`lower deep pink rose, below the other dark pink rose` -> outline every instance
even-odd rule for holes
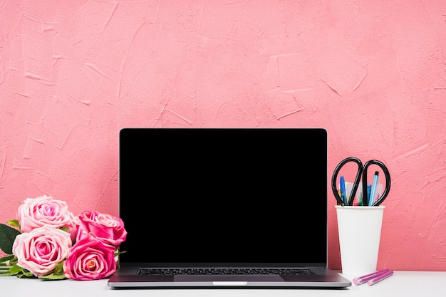
[[[78,281],[106,278],[116,271],[115,251],[115,246],[85,236],[74,244],[63,262],[65,276]]]

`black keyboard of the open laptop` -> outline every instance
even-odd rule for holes
[[[314,273],[309,269],[139,269],[138,275],[142,276],[174,276],[174,275],[234,275],[234,274],[254,274],[254,275],[292,275],[311,276]]]

